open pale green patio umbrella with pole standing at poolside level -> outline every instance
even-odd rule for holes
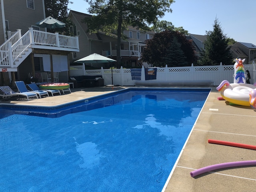
[[[75,62],[78,63],[112,63],[115,62],[116,60],[102,56],[100,54],[90,54],[82,59],[76,60]],[[112,70],[112,65],[111,65],[111,74],[112,74],[112,85],[113,85],[113,70]]]

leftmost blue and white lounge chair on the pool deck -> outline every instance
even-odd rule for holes
[[[4,93],[4,94],[0,94],[0,96],[4,99],[10,98],[13,96],[25,96],[28,100],[29,98],[32,98],[32,97],[36,97],[38,99],[38,96],[36,93],[33,93],[33,92],[16,93],[9,86],[0,86],[0,90]]]

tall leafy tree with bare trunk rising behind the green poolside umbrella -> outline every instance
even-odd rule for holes
[[[91,32],[99,30],[107,35],[117,35],[117,62],[120,67],[120,48],[122,31],[127,26],[149,30],[164,13],[172,12],[170,5],[174,0],[86,0],[90,4],[88,12],[93,16],[85,18]]]

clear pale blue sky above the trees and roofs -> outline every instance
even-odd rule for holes
[[[89,4],[72,0],[68,8],[87,13]],[[175,0],[160,20],[182,26],[190,34],[205,35],[213,30],[214,20],[220,22],[222,32],[237,42],[256,45],[256,0]]]

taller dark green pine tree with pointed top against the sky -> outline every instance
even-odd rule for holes
[[[213,25],[213,31],[206,31],[207,40],[205,50],[202,51],[201,63],[203,65],[223,65],[232,64],[232,54],[228,47],[228,38],[223,34],[222,28],[216,18]]]

